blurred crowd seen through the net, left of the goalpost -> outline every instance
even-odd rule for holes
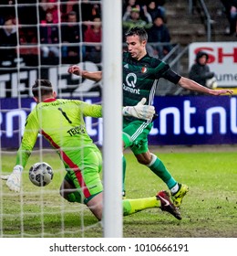
[[[14,66],[15,59],[27,66],[73,64],[93,56],[100,61],[101,1],[32,2],[17,0],[17,7],[15,1],[0,2],[1,66]]]

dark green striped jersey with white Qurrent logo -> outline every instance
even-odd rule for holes
[[[129,52],[123,53],[123,106],[135,106],[146,98],[146,104],[152,105],[156,88],[160,78],[178,83],[180,75],[170,69],[170,66],[150,57],[149,54],[142,59],[130,57]],[[131,122],[133,117],[124,117],[124,121]]]

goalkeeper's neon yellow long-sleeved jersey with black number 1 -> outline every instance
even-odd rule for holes
[[[75,155],[80,157],[80,151],[83,148],[96,148],[97,146],[93,144],[87,133],[85,116],[101,117],[101,105],[62,99],[48,99],[38,103],[27,116],[16,165],[26,166],[28,157],[36,144],[38,133],[41,133],[57,149],[62,158],[70,159]]]

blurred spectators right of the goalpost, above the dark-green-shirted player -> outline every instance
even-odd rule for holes
[[[165,2],[165,0],[123,1],[123,32],[134,26],[144,27],[149,35],[149,55],[158,56],[160,59],[171,49]]]

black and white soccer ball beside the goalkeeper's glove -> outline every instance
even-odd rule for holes
[[[53,169],[46,162],[32,165],[29,169],[29,179],[37,187],[45,187],[53,179]]]

